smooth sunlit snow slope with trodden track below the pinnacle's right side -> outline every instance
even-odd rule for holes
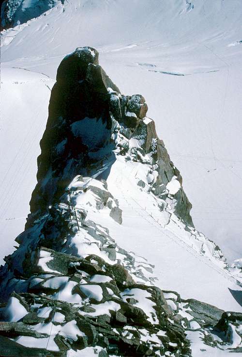
[[[108,227],[112,238],[124,249],[154,264],[156,286],[178,291],[184,299],[192,297],[224,310],[242,311],[229,291],[239,292],[241,288],[224,270],[222,262],[196,251],[194,236],[184,230],[174,214],[167,219],[167,212],[161,213],[154,195],[137,185],[139,179],[146,177],[146,168],[142,166],[146,165],[126,162],[121,156],[111,166],[107,185],[119,201],[121,225],[109,216],[108,210],[90,208],[88,218]],[[76,201],[76,209],[83,205],[84,202]]]

